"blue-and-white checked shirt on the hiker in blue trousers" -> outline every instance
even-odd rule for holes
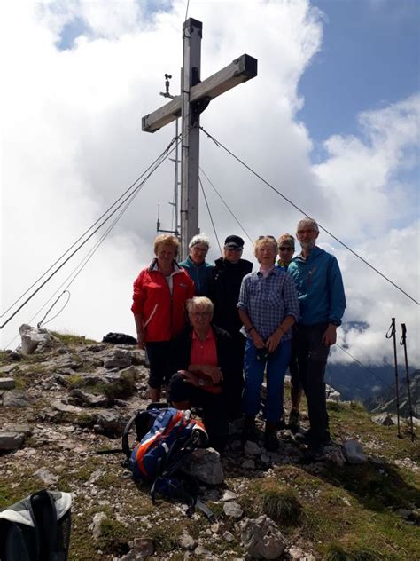
[[[244,277],[237,308],[245,310],[253,327],[265,341],[280,326],[284,318],[292,315],[299,320],[298,292],[292,277],[275,267],[268,277],[260,271]],[[284,333],[283,341],[292,339],[292,329]]]

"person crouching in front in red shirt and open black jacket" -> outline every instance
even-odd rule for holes
[[[206,296],[187,302],[191,328],[175,339],[169,397],[177,409],[203,409],[210,445],[222,451],[229,434],[227,395],[231,391],[232,339],[212,323],[214,306]]]

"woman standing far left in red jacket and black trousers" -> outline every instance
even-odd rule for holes
[[[149,389],[159,401],[161,386],[172,372],[172,344],[186,324],[185,303],[194,296],[194,282],[175,261],[179,241],[162,233],[154,241],[156,257],[134,281],[133,305],[137,343],[150,362]]]

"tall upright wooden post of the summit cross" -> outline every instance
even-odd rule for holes
[[[188,243],[198,233],[199,113],[191,104],[191,88],[200,82],[201,21],[189,18],[183,23],[183,118],[181,176],[181,257],[188,256]]]

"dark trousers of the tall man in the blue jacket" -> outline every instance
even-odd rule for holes
[[[312,326],[298,325],[296,328],[299,377],[307,396],[308,436],[315,444],[330,440],[324,382],[330,347],[322,342],[327,327],[327,323],[318,323]]]

